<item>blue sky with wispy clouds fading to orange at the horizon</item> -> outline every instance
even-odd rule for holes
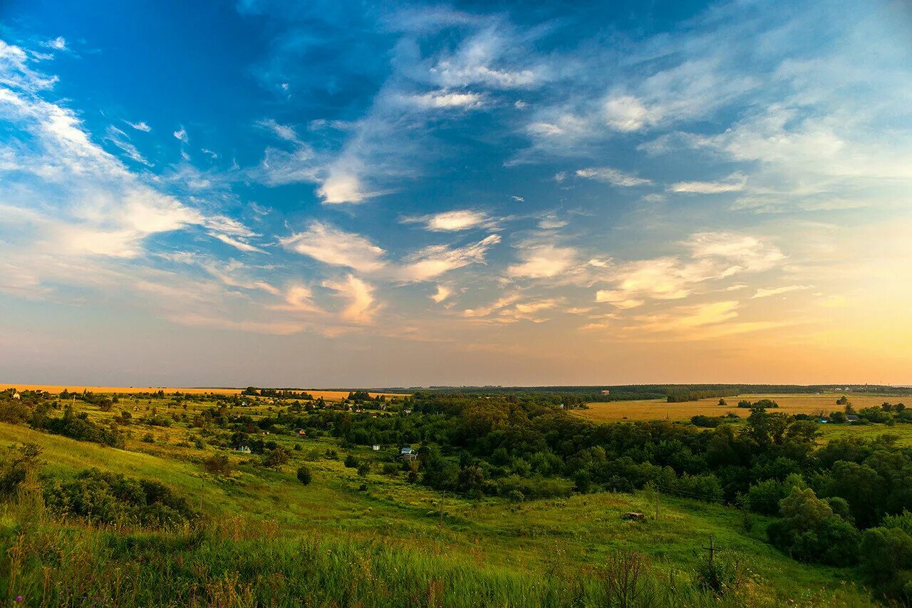
[[[0,4],[0,380],[912,383],[912,5]]]

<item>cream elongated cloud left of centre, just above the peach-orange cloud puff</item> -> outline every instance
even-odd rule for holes
[[[373,272],[386,266],[383,260],[386,252],[367,238],[322,222],[311,222],[304,232],[281,238],[279,243],[331,266],[346,266],[360,272]]]

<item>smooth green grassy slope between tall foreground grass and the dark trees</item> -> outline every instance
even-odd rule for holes
[[[160,435],[180,432],[157,431]],[[292,437],[273,438],[288,444],[298,441]],[[241,516],[275,521],[287,537],[329,534],[371,542],[382,539],[384,546],[420,550],[423,555],[455,558],[484,567],[497,566],[508,572],[554,571],[567,565],[586,571],[604,563],[611,550],[627,547],[645,552],[659,568],[689,571],[697,561],[700,546],[712,534],[723,549],[747,556],[751,570],[761,577],[759,595],[773,603],[773,598],[817,598],[823,602],[821,598],[830,593],[841,601],[866,602],[864,592],[844,586],[843,581],[854,578],[850,571],[787,559],[762,541],[762,519],[747,535],[741,532],[737,511],[700,502],[662,498],[658,522],[631,523],[622,521],[620,516],[629,510],[654,511],[646,493],[534,500],[518,506],[495,499],[448,497],[444,503],[446,525],[440,529],[440,497],[401,479],[372,473],[368,476],[368,491],[361,492],[357,488],[363,479],[353,469],[339,461],[320,460],[307,463],[314,471],[314,483],[308,487],[297,483],[294,470],[303,455],[314,447],[335,446],[328,439],[302,442],[304,450],[293,452],[295,461],[283,471],[264,471],[241,464],[239,472],[227,481],[202,473],[197,464],[211,450],[200,452],[130,441],[130,450],[150,452],[140,453],[0,424],[0,442],[26,441],[42,446],[46,473],[61,475],[98,466],[159,479],[192,501],[200,500],[198,506],[225,525],[230,525],[232,516],[238,522]],[[356,453],[359,457],[376,457],[367,449]],[[341,451],[340,454],[344,456]],[[246,460],[236,459],[240,463]]]

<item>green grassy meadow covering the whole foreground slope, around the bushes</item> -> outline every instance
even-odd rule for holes
[[[872,603],[853,569],[793,561],[774,549],[765,535],[772,518],[751,516],[746,526],[741,509],[651,489],[520,502],[441,494],[382,471],[399,446],[374,451],[329,435],[258,433],[290,455],[282,466],[264,467],[260,456],[219,448],[217,433],[186,422],[217,399],[120,393],[107,412],[72,402],[102,425],[132,412],[124,449],[0,423],[0,445],[40,447],[46,479],[98,467],[157,480],[204,516],[184,529],[87,526],[39,518],[40,509],[20,497],[20,505],[4,508],[5,549],[19,555],[6,591],[26,605],[615,605],[606,567],[628,554],[618,551],[633,551],[648,560],[659,588],[677,589],[642,605]],[[233,410],[256,419],[288,406],[254,398]],[[141,425],[144,414],[173,422]],[[326,456],[331,451],[337,456]],[[207,472],[204,460],[215,454],[229,458],[229,474]],[[349,455],[369,470],[346,466]],[[312,471],[309,485],[295,478],[299,466]],[[631,511],[647,517],[623,519]],[[691,584],[710,538],[747,566],[741,591],[724,600]]]

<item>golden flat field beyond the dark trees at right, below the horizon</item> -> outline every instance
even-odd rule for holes
[[[843,393],[824,394],[743,394],[737,397],[726,397],[728,407],[721,407],[719,398],[702,399],[684,404],[668,404],[663,399],[644,399],[638,401],[614,401],[609,403],[589,404],[588,410],[571,410],[573,414],[583,416],[596,422],[615,422],[617,420],[689,420],[690,416],[703,414],[718,416],[734,412],[741,417],[747,416],[747,410],[735,407],[741,399],[754,402],[760,399],[772,399],[779,404],[778,412],[788,414],[814,414],[819,410],[833,412],[842,410],[842,405],[836,405],[836,400]],[[859,393],[846,393],[855,409],[880,405],[885,401],[896,404],[903,402],[912,406],[912,395],[905,397],[884,397],[877,395],[863,395]]]

